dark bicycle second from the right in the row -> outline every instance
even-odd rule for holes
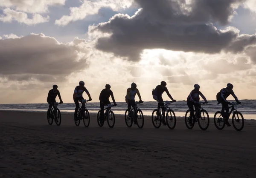
[[[206,104],[205,102],[199,102],[199,106],[195,108],[195,115],[193,117],[193,120],[190,122],[190,117],[187,116],[188,113],[190,113],[190,110],[188,109],[185,114],[185,123],[186,127],[188,129],[192,129],[195,126],[195,122],[198,122],[198,125],[200,129],[206,130],[209,127],[209,114],[208,112],[202,107],[202,105]],[[207,117],[207,118],[206,118]],[[200,123],[200,121],[203,121],[203,123]]]

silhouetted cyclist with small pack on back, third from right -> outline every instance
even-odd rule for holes
[[[160,107],[162,108],[162,112],[164,111],[164,103],[163,103],[163,98],[162,98],[162,94],[163,92],[166,92],[166,94],[169,96],[169,98],[175,102],[176,100],[174,100],[172,98],[172,96],[170,95],[168,89],[166,88],[166,82],[165,81],[161,81],[160,85],[157,85],[155,89],[153,89],[152,91],[152,95],[153,95],[153,98],[154,100],[157,100],[158,102],[158,106],[157,106],[157,116],[160,116],[160,112],[159,112],[159,109]],[[164,116],[163,116],[164,118]],[[164,119],[163,120],[163,125],[166,125]]]

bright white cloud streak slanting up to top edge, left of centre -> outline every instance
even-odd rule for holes
[[[102,7],[109,7],[114,11],[125,9],[132,5],[133,0],[83,0],[79,7],[70,7],[70,15],[64,15],[55,20],[58,26],[66,26],[70,22],[82,20],[88,15],[97,14]]]

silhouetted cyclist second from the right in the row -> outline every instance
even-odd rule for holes
[[[200,86],[198,84],[195,84],[194,89],[190,92],[187,98],[187,105],[189,106],[189,111],[190,111],[189,118],[194,118],[195,116],[194,106],[195,106],[195,110],[197,110],[198,107],[200,106],[199,104],[200,96],[203,98],[205,103],[208,103],[207,99],[199,91],[199,89],[200,89]],[[189,125],[190,126],[192,125],[192,119],[189,119]]]

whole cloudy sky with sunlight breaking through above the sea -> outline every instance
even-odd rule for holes
[[[0,103],[46,103],[53,84],[71,103],[80,80],[92,102],[132,82],[153,101],[162,80],[176,100],[195,83],[256,99],[255,76],[255,0],[0,0]]]

